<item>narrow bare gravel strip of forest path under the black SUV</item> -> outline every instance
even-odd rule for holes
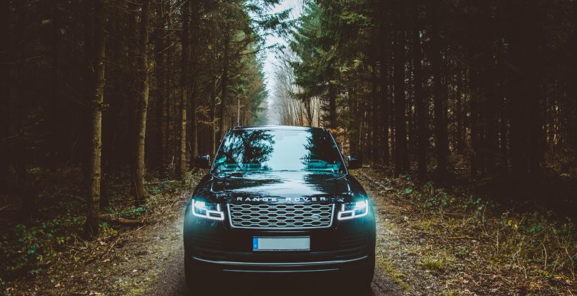
[[[368,188],[367,188],[368,189]],[[369,192],[369,195],[372,195]],[[387,242],[388,231],[383,227],[383,219],[379,213],[383,211],[379,205],[376,205],[377,212],[377,260],[379,262],[380,249],[390,243]],[[137,278],[131,278],[132,283],[146,283],[147,287],[134,285],[134,289],[129,291],[132,295],[189,295],[184,281],[184,251],[182,248],[182,223],[184,209],[183,205],[179,206],[179,215],[173,219],[152,226],[148,233],[142,233],[146,241],[141,242],[148,247],[149,252],[140,257],[138,262],[141,267],[134,266],[134,269],[143,270],[144,272],[137,275]],[[402,295],[403,289],[386,275],[383,266],[376,264],[374,281],[370,289],[359,291],[355,290],[355,295]],[[133,267],[130,267],[131,269]],[[139,279],[140,278],[140,279]],[[146,281],[146,278],[154,278]],[[215,281],[215,288],[219,291],[217,295],[351,295],[351,291],[343,290],[326,290],[326,284],[322,282],[319,285],[299,285],[286,284],[274,285],[266,284],[256,279],[254,282],[233,282]],[[303,293],[304,292],[304,293]],[[192,293],[191,293],[192,294]]]

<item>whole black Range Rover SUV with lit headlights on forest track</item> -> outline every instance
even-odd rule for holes
[[[375,221],[369,197],[327,129],[229,129],[186,206],[184,265],[211,274],[345,274],[369,285]],[[352,281],[351,281],[352,280]],[[198,285],[196,285],[198,287]]]

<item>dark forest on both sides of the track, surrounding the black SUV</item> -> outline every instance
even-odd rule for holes
[[[326,127],[425,212],[491,205],[497,252],[533,214],[529,277],[577,291],[575,0],[0,0],[0,40],[6,295],[179,213],[195,156],[262,124]]]

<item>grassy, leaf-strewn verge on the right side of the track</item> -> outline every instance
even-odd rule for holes
[[[544,205],[499,202],[467,185],[445,188],[380,169],[355,174],[391,232],[381,250],[384,270],[411,294],[576,293],[572,217]]]

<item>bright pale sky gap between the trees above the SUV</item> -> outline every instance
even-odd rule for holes
[[[278,13],[280,11],[284,11],[286,9],[291,8],[291,18],[295,19],[300,16],[303,11],[303,0],[283,0],[281,4],[274,7],[272,13]],[[283,44],[286,45],[286,40],[278,37],[278,36],[269,36],[267,37],[266,45],[270,46],[273,44]],[[274,51],[267,51],[267,56],[265,59],[265,65],[263,66],[263,70],[265,71],[265,83],[267,84],[267,91],[269,92],[269,97],[267,98],[267,104],[269,106],[267,110],[267,117],[268,117],[268,124],[279,124],[278,117],[273,114],[274,110],[271,109],[272,104],[272,84],[274,81],[272,77],[274,77],[274,65],[277,64],[277,54]]]

